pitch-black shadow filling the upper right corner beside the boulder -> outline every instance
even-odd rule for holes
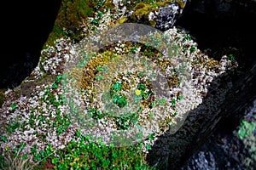
[[[256,3],[250,4],[251,7],[231,3],[230,8],[219,11],[218,4],[214,4],[218,1],[208,0],[205,3],[212,4],[205,4],[205,7],[199,2],[188,2],[175,26],[189,31],[198,48],[209,57],[219,59],[224,54],[234,53],[246,69],[255,60]],[[238,49],[240,54],[230,47]],[[207,51],[208,48],[212,50]]]

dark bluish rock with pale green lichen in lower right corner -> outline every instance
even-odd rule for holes
[[[219,126],[181,169],[255,169],[255,106],[256,100],[241,114],[239,126]]]

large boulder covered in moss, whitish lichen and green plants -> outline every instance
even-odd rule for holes
[[[50,37],[44,49],[41,50],[38,65],[20,86],[3,93],[5,100],[0,109],[0,123],[3,125],[0,128],[3,135],[0,145],[1,161],[4,160],[3,156],[14,156],[11,153],[22,147],[20,144],[26,144],[25,149],[20,151],[20,154],[24,157],[34,154],[32,163],[36,163],[46,156],[46,161],[38,162],[41,167],[73,168],[83,165],[87,167],[104,165],[110,168],[109,166],[114,165],[117,167],[141,166],[142,168],[175,169],[181,167],[184,160],[188,159],[203,144],[218,126],[220,120],[230,117],[230,111],[236,110],[236,107],[243,108],[247,99],[253,99],[255,94],[253,87],[256,82],[253,81],[255,79],[253,77],[255,67],[248,72],[241,70],[239,67],[241,60],[239,62],[236,60],[236,58],[241,59],[241,54],[237,52],[236,48],[232,48],[233,51],[237,52],[235,56],[228,51],[229,53],[218,56],[218,58],[211,58],[205,51],[201,50],[196,38],[194,39],[189,31],[183,27],[176,27],[178,16],[188,14],[183,13],[186,1],[136,3],[114,0],[91,2],[89,4],[87,1],[62,1],[60,12],[55,20],[55,29],[50,32]],[[109,31],[108,27],[114,27],[125,22],[144,24],[160,31],[166,31],[166,37],[169,38],[169,42],[172,42],[172,47],[168,48],[167,51],[173,54],[174,59],[177,60],[174,60],[173,65],[170,65],[170,62],[166,60],[159,62],[159,65],[162,71],[169,71],[168,73],[170,73],[167,79],[168,87],[172,88],[172,101],[168,105],[172,105],[172,109],[177,109],[177,111],[160,122],[160,129],[154,127],[153,119],[151,127],[148,129],[158,129],[160,132],[150,134],[147,139],[140,143],[139,154],[137,154],[137,150],[131,148],[131,152],[135,154],[132,156],[125,154],[124,157],[120,158],[119,154],[121,154],[122,148],[113,149],[111,146],[108,148],[102,144],[97,147],[93,142],[91,145],[88,144],[87,138],[90,135],[108,133],[109,128],[118,127],[119,130],[125,130],[132,122],[125,118],[116,119],[112,116],[106,116],[101,111],[97,111],[95,108],[88,109],[88,107],[87,109],[92,115],[91,122],[98,122],[101,126],[106,126],[108,122],[112,124],[110,123],[111,126],[102,131],[92,131],[93,128],[91,128],[81,132],[77,123],[70,120],[69,112],[76,113],[80,108],[84,108],[84,105],[96,100],[94,98],[96,95],[92,93],[94,88],[90,85],[94,85],[93,83],[98,80],[108,80],[108,77],[102,78],[97,74],[106,69],[104,66],[109,61],[108,54],[114,53],[117,56],[125,56],[126,52],[141,50],[141,53],[148,54],[150,59],[155,59],[154,61],[157,63],[156,59],[160,58],[161,54],[148,47],[148,43],[142,45],[137,42],[125,43],[121,41],[101,48],[99,52],[102,58],[92,59],[90,62],[86,60],[90,60],[90,56],[84,52],[94,48],[94,46],[90,46],[89,42],[83,43],[86,42],[83,37],[89,38],[92,44],[96,45],[98,43],[93,43],[93,41],[102,39],[95,32],[102,35],[102,33]],[[136,31],[134,32],[134,35],[137,35]],[[134,38],[136,39],[136,37]],[[165,54],[167,51],[163,53]],[[76,65],[68,70],[67,65],[72,64],[76,57],[82,58],[81,62],[75,62]],[[177,65],[179,61],[186,61],[185,65]],[[111,71],[126,69],[117,62],[111,64],[114,67]],[[173,68],[173,66],[178,67]],[[188,80],[190,82],[188,86],[180,89],[178,84],[183,80],[183,77],[178,77],[177,73],[184,71],[184,69],[186,71],[186,66],[188,66],[188,75],[186,76],[191,77]],[[172,69],[170,70],[170,68]],[[65,77],[67,78],[66,73],[68,71],[72,72],[71,75],[74,79],[62,81]],[[80,79],[81,75],[84,76]],[[133,81],[139,82],[137,77],[141,77],[141,75],[137,76],[137,73],[134,75],[136,78]],[[76,86],[79,89],[70,90],[70,84],[67,85],[67,82],[75,82],[76,77],[79,77],[78,79],[81,81]],[[114,78],[119,80],[120,77],[125,76],[119,74]],[[129,77],[125,78],[130,81]],[[247,88],[242,84],[244,80],[248,83]],[[129,88],[127,83],[125,85]],[[135,94],[137,96],[144,94],[145,102],[143,104],[148,104],[154,101],[154,97],[147,98],[148,91],[144,91],[145,88],[147,86],[143,86],[140,82]],[[67,91],[65,91],[66,89]],[[111,89],[113,94],[124,90],[119,83],[115,83]],[[67,92],[66,97],[69,97],[69,102],[71,99],[70,105],[66,105],[67,98],[62,98],[63,91]],[[79,100],[80,92],[83,93],[80,98],[83,101]],[[68,96],[69,93],[70,96]],[[189,95],[184,97],[182,94]],[[123,99],[122,96],[116,96],[118,98],[113,99],[116,103],[119,102],[117,100]],[[245,100],[241,100],[241,98]],[[146,99],[150,100],[146,101]],[[92,104],[94,103],[91,103],[90,107],[97,106]],[[143,110],[143,108],[141,109]],[[150,107],[148,107],[149,109]],[[159,113],[156,115],[159,116]],[[146,117],[151,117],[151,114],[148,115],[146,114]],[[173,117],[177,117],[177,119]],[[144,117],[140,116],[139,118],[143,119]],[[135,117],[132,117],[131,121],[136,122]],[[128,135],[130,134],[128,133]],[[84,145],[84,142],[88,145]],[[81,153],[80,150],[88,151],[86,153],[90,153],[90,155]],[[103,151],[101,152],[101,150]],[[105,154],[106,150],[107,153],[113,153],[110,154],[112,156],[110,160],[108,156],[96,159],[101,154]],[[113,152],[113,150],[118,151]],[[49,154],[50,152],[54,152],[54,154]],[[141,160],[137,161],[137,157]],[[124,161],[125,165],[123,164]]]

